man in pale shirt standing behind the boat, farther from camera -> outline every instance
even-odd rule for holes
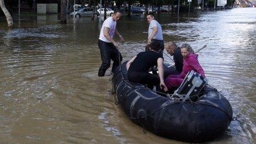
[[[147,14],[147,22],[150,24],[150,26],[148,27],[148,41],[146,44],[146,50],[147,50],[148,44],[150,44],[152,41],[157,41],[160,43],[161,52],[163,53],[164,42],[163,42],[163,33],[162,33],[161,25],[156,20],[154,20],[153,13]]]

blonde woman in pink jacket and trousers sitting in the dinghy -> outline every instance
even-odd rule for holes
[[[192,47],[189,44],[183,44],[180,46],[180,50],[183,56],[183,70],[179,75],[169,75],[165,79],[164,83],[168,90],[178,88],[180,84],[182,84],[186,74],[191,70],[201,74],[201,76],[205,78],[204,70],[202,70],[198,61],[198,55],[194,54]]]

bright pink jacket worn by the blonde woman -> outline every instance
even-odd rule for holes
[[[186,74],[191,70],[198,72],[205,77],[205,72],[202,70],[202,67],[198,62],[198,55],[196,54],[189,54],[188,57],[183,58],[183,71],[180,73],[179,78],[185,78]]]

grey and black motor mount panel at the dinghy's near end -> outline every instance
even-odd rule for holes
[[[183,101],[188,99],[194,101],[202,95],[201,93],[206,84],[207,82],[201,74],[190,71],[186,74],[180,87],[175,90],[174,95],[177,95],[180,99],[183,99]]]

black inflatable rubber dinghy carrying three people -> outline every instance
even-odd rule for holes
[[[132,122],[158,136],[185,142],[209,141],[225,132],[232,120],[228,100],[206,85],[195,102],[163,97],[142,84],[129,82],[126,62],[114,72],[112,84],[116,104]]]

